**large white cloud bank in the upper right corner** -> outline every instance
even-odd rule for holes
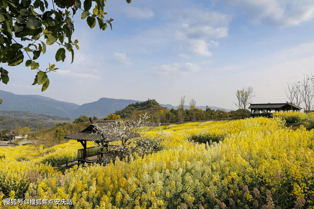
[[[253,24],[289,27],[314,18],[312,0],[234,0],[230,5],[246,12]]]

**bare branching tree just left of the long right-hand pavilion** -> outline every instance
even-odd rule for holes
[[[253,87],[251,86],[243,87],[241,90],[237,90],[236,97],[238,99],[238,102],[234,102],[234,104],[243,111],[243,117],[246,117],[246,106],[252,102],[253,97],[255,96],[256,94]]]

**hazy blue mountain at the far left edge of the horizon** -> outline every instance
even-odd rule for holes
[[[69,117],[70,112],[79,107],[74,103],[62,102],[40,95],[19,95],[2,90],[0,90],[0,98],[4,99],[0,110],[7,111],[20,110]]]

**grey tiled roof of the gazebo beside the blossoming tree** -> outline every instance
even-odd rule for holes
[[[68,139],[75,139],[77,141],[95,141],[95,142],[112,142],[112,141],[121,141],[120,137],[108,134],[108,133],[97,133],[97,127],[104,127],[106,126],[108,129],[112,129],[113,123],[116,123],[118,120],[92,120],[89,119],[92,123],[87,128],[85,128],[83,131],[79,131],[77,133],[71,133],[64,136],[64,138]]]

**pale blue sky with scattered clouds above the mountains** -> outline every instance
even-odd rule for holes
[[[50,86],[30,86],[35,71],[3,66],[14,94],[38,94],[79,105],[101,97],[236,109],[235,92],[252,86],[254,103],[286,102],[287,82],[300,81],[314,64],[314,1],[108,0],[112,31],[89,29],[74,16],[75,50],[56,62],[57,44],[38,59],[55,63]],[[73,39],[73,40],[74,40]]]

